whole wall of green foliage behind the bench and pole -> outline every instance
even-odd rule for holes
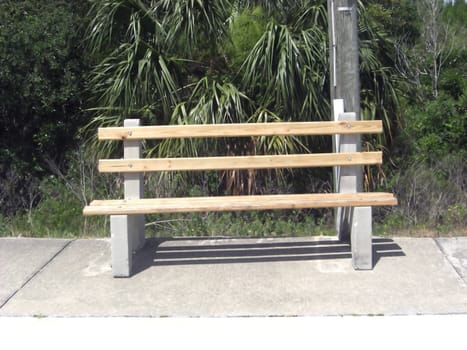
[[[434,61],[417,12],[422,1],[359,5],[362,116],[385,125],[383,138],[365,140],[385,154],[384,168],[368,172],[367,183],[394,192],[400,202],[376,211],[379,233],[420,227],[464,232],[467,226],[467,5],[446,5],[437,18],[447,28],[447,45],[434,93]],[[91,199],[122,191],[118,177],[96,172],[98,155],[113,151],[93,143],[97,126],[121,125],[127,116],[156,124],[328,118],[326,1],[200,4],[0,2],[0,235],[106,235],[106,218],[81,216]],[[160,143],[148,150],[178,155],[329,147],[323,140],[246,141]],[[326,191],[329,176],[259,173],[255,191]],[[247,179],[229,185],[207,173],[147,181],[156,194],[172,195],[217,194]],[[312,234],[331,217],[323,210],[151,220],[161,223],[157,234],[183,228],[198,235],[250,234],[248,223],[263,235]]]

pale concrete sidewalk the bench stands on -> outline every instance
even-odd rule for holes
[[[467,237],[374,238],[354,271],[329,237],[148,240],[128,279],[106,239],[0,239],[0,316],[467,314]]]

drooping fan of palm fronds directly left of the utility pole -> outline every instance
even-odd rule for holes
[[[284,119],[328,118],[311,115],[325,87],[325,42],[317,27],[292,32],[270,22],[243,65],[245,90]]]

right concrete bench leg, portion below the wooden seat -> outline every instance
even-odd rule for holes
[[[356,270],[373,269],[371,207],[352,209],[350,245],[352,264]]]

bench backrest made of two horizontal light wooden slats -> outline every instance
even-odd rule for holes
[[[348,113],[353,114],[353,113]],[[99,128],[99,140],[122,140],[131,143],[147,139],[219,138],[257,136],[308,136],[374,134],[383,131],[382,122],[329,121],[284,122],[214,125],[168,125]],[[355,141],[357,140],[355,139]],[[358,142],[354,142],[357,144]],[[358,149],[358,147],[355,147]],[[359,166],[381,164],[381,152],[344,152],[283,155],[250,155],[184,158],[147,158],[125,156],[125,159],[99,161],[100,172],[157,172],[222,169],[273,169]]]

